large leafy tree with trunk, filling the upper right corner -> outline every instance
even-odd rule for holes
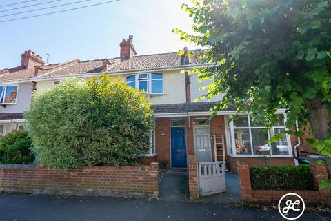
[[[193,72],[214,80],[201,98],[225,93],[214,111],[234,105],[266,126],[283,120],[274,113],[284,108],[287,128],[309,122],[308,141],[331,157],[330,1],[194,0],[182,7],[194,34],[174,32],[208,48],[194,55],[208,65]]]

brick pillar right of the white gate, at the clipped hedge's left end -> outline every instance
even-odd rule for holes
[[[252,198],[252,186],[250,183],[250,169],[246,162],[237,161],[239,188],[241,200],[250,200]]]

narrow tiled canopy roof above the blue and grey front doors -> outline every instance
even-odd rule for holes
[[[186,113],[186,112],[208,112],[217,105],[217,102],[194,102],[183,104],[155,104],[152,105],[154,113]],[[235,111],[230,107],[222,111]]]

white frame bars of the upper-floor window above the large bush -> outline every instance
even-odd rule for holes
[[[139,75],[146,74],[146,77],[139,78]],[[162,75],[162,79],[152,79],[152,74],[160,74]],[[134,81],[128,81],[128,77],[134,76]],[[134,82],[134,88],[139,90],[139,82],[147,81],[147,91],[144,93],[147,93],[149,95],[164,95],[164,74],[163,73],[138,73],[133,75],[126,75],[126,85]],[[161,81],[162,82],[162,93],[153,93],[152,92],[152,81]],[[139,90],[142,91],[142,90]]]

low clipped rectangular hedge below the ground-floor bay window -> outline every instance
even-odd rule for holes
[[[252,189],[312,189],[309,165],[250,166]]]

